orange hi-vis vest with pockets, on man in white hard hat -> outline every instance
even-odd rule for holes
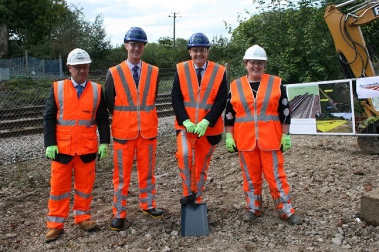
[[[53,83],[58,107],[56,137],[59,153],[83,155],[98,151],[96,111],[101,85],[87,81],[80,98],[71,80]]]

